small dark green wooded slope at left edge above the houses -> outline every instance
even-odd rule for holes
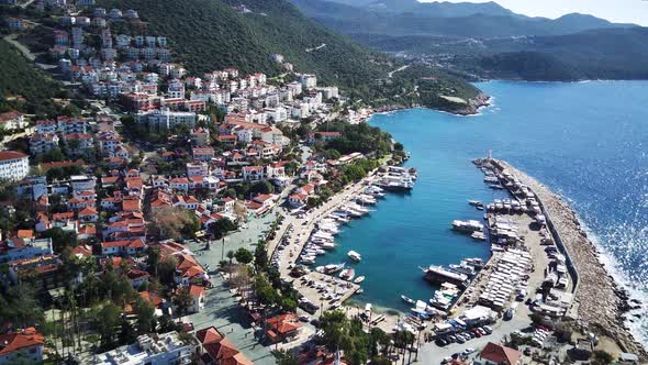
[[[52,114],[56,110],[52,98],[59,92],[58,82],[36,68],[13,45],[0,40],[0,111],[18,109]]]

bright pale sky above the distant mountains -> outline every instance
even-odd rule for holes
[[[420,0],[422,2],[434,0]],[[443,1],[443,0],[439,0]],[[448,0],[446,0],[448,1]],[[449,0],[488,2],[490,0]],[[592,14],[615,23],[648,26],[648,0],[494,0],[500,5],[528,16],[559,18],[567,13]]]

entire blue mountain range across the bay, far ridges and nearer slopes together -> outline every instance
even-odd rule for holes
[[[483,78],[646,78],[646,29],[589,14],[516,14],[495,2],[291,0],[304,14],[375,49]]]

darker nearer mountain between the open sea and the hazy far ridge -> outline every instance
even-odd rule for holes
[[[648,79],[646,27],[491,40],[376,34],[356,38],[375,48],[421,55],[485,78]]]

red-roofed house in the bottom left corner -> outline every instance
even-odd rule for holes
[[[45,336],[33,327],[0,334],[0,364],[43,363]]]

